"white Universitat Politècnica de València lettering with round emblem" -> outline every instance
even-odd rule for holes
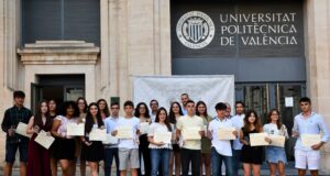
[[[296,13],[220,13],[218,41],[221,46],[297,45]],[[213,21],[201,11],[185,13],[176,25],[178,40],[186,47],[207,46],[215,36]],[[260,35],[261,34],[261,35]]]

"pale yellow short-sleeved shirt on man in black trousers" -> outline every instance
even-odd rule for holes
[[[189,128],[189,127],[198,127],[200,131],[204,131],[204,121],[198,116],[189,117],[187,114],[178,119],[176,125],[177,130],[180,130],[183,132],[185,128]],[[200,145],[201,145],[200,140],[187,140],[184,141],[183,147],[187,150],[200,150],[201,148]]]

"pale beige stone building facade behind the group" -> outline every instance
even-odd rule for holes
[[[67,97],[75,97],[75,94],[82,91],[88,101],[119,97],[123,102],[132,98],[132,76],[189,74],[189,70],[182,69],[179,62],[183,61],[174,59],[174,53],[177,52],[173,48],[176,46],[176,31],[173,30],[172,18],[175,15],[173,9],[177,9],[174,1],[95,1],[99,3],[99,42],[72,37],[41,38],[24,43],[24,35],[31,34],[25,29],[30,21],[24,20],[23,15],[24,7],[28,10],[31,8],[26,4],[29,2],[0,0],[0,114],[12,106],[12,91],[15,89],[24,90],[25,106],[33,107],[34,99],[40,95],[38,86],[47,84],[50,76],[52,78],[54,75],[59,76],[59,79],[63,76],[63,81],[66,76],[82,76],[81,79],[77,78],[80,87],[68,86],[64,89]],[[300,52],[305,59],[302,67],[293,69],[302,69],[306,74],[298,80],[306,87],[304,95],[311,98],[314,109],[323,114],[330,127],[330,1],[301,0],[297,3],[301,6],[302,12],[302,23],[299,24],[302,30],[297,30],[302,31]],[[74,77],[72,81],[76,81]],[[266,81],[273,82],[272,79]],[[276,103],[273,106],[276,107]],[[0,160],[3,161],[4,133],[0,134]],[[330,174],[329,162],[330,143],[322,147],[322,170],[327,174]]]

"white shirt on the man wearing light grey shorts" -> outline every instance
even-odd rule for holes
[[[120,118],[118,120],[117,127],[125,125],[125,127],[132,127],[132,134],[133,139],[121,139],[119,140],[118,147],[123,148],[139,148],[139,135],[136,134],[136,131],[139,130],[140,120],[136,117],[133,118]]]

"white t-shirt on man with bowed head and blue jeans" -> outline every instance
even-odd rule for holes
[[[216,151],[220,155],[224,156],[232,156],[232,151],[231,151],[231,144],[229,140],[219,140],[218,138],[218,130],[220,128],[231,128],[233,127],[231,119],[224,118],[222,121],[219,118],[215,118],[210,123],[209,123],[209,131],[212,134],[212,147],[216,148]]]

